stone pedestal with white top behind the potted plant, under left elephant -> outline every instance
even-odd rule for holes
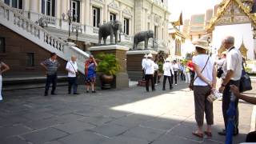
[[[121,70],[114,78],[113,87],[117,89],[129,87],[129,78],[126,69],[126,51],[129,50],[128,47],[119,45],[93,46],[90,47],[89,50],[91,54],[94,54],[94,56],[100,53],[114,54],[116,58],[118,58],[118,62],[121,65]]]

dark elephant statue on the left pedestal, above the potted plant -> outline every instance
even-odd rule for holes
[[[118,31],[119,31],[119,41],[118,41]],[[99,26],[98,30],[98,44],[102,43],[102,38],[104,41],[104,45],[106,45],[106,38],[110,35],[110,44],[118,44],[121,42],[121,33],[122,33],[122,23],[114,20],[110,22],[106,22],[102,26]],[[113,38],[115,38],[115,42],[113,42]]]

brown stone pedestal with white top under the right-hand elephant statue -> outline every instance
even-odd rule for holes
[[[145,54],[152,54],[154,57],[158,52],[154,50],[133,50],[127,51],[127,72],[132,81],[138,81],[139,86],[144,86],[142,81],[142,59]]]

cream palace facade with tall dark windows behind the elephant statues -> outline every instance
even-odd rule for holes
[[[132,47],[134,34],[154,30],[158,50],[169,51],[167,0],[2,1],[32,22],[46,22],[44,29],[58,38],[66,40],[70,30],[70,39],[85,51],[98,43],[98,26],[113,20],[122,22],[121,45]],[[68,17],[69,10],[72,18]],[[69,19],[72,21],[70,25]]]

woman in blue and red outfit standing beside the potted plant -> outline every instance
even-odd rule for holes
[[[98,66],[95,58],[90,54],[89,59],[85,62],[85,75],[86,75],[86,93],[89,93],[90,86],[92,93],[96,93],[94,90],[94,84],[96,82],[96,67]]]

